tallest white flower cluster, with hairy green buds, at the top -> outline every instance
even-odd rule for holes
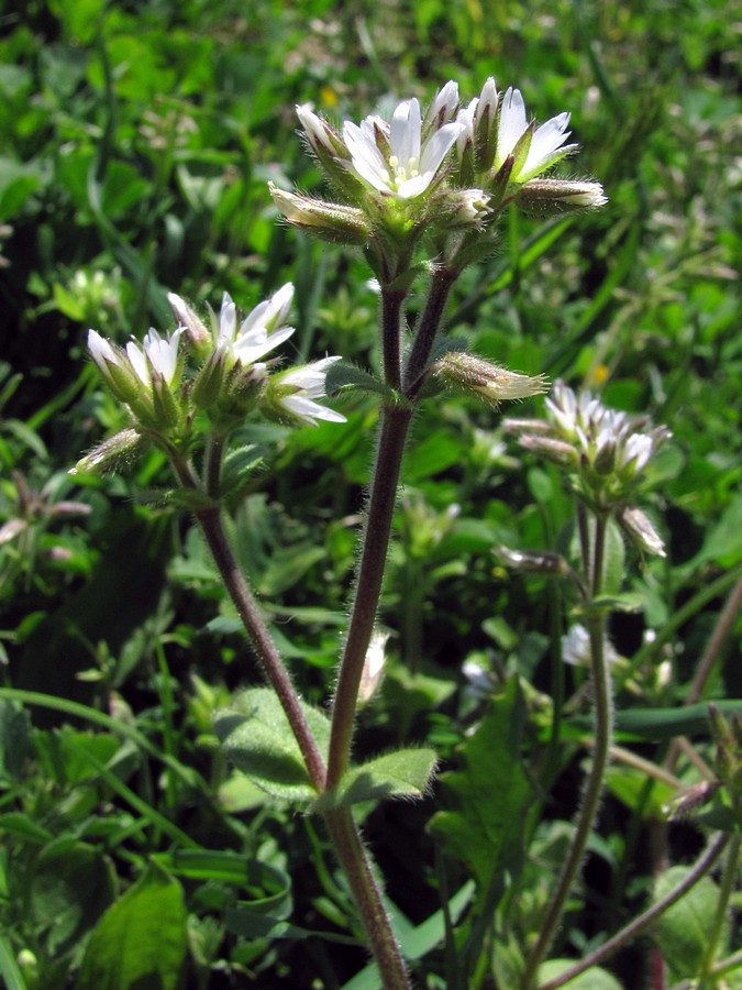
[[[308,106],[297,114],[342,202],[270,191],[290,223],[328,240],[359,244],[379,230],[410,234],[431,223],[480,227],[513,200],[542,213],[606,202],[598,183],[538,178],[577,147],[566,143],[569,114],[536,127],[520,90],[499,94],[492,78],[466,106],[456,82],[446,82],[424,116],[414,98],[389,119],[370,114],[340,130]]]

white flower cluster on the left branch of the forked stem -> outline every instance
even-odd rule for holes
[[[143,438],[168,451],[187,449],[199,413],[221,436],[241,426],[255,408],[289,425],[344,421],[340,413],[315,402],[324,396],[326,372],[339,358],[285,371],[274,371],[275,360],[261,360],[294,333],[288,324],[292,299],[294,286],[287,284],[241,319],[225,293],[219,315],[211,311],[207,327],[184,299],[170,294],[178,327],[167,336],[151,329],[141,343],[132,340],[120,348],[90,330],[90,356],[129,408],[132,427],[104,441],[75,470],[117,466],[139,450]],[[189,356],[195,367],[188,367]]]

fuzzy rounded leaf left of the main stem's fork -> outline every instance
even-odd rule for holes
[[[330,722],[303,705],[320,751],[330,741]],[[283,801],[317,798],[288,718],[269,688],[244,691],[229,708],[214,714],[214,732],[232,762],[268,794]]]

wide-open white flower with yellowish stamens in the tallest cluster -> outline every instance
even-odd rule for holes
[[[386,136],[388,158],[376,141],[377,129]],[[343,139],[351,154],[351,168],[374,189],[398,199],[413,199],[428,189],[443,160],[461,133],[463,124],[444,124],[423,142],[420,105],[416,99],[399,103],[391,125],[378,117],[367,117],[361,127],[346,120]]]

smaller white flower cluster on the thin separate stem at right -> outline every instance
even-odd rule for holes
[[[649,517],[631,504],[644,469],[672,435],[609,409],[589,392],[556,382],[546,399],[546,420],[505,421],[522,447],[563,465],[583,499],[596,512],[613,512],[632,541],[647,553],[664,556],[662,539]]]

